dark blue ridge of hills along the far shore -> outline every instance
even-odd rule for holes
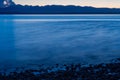
[[[62,5],[46,5],[46,6],[23,6],[12,5],[0,8],[0,14],[119,14],[120,8],[95,8],[81,6],[62,6]]]

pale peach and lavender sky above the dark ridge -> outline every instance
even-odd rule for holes
[[[77,5],[93,7],[120,8],[120,0],[13,0],[22,5]]]

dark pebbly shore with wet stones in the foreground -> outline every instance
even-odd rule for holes
[[[56,64],[54,67],[37,70],[1,73],[0,80],[120,80],[120,62],[89,66]]]

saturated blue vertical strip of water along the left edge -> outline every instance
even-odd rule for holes
[[[0,61],[15,59],[14,50],[14,22],[3,15],[0,18]]]

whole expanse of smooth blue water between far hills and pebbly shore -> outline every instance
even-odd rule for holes
[[[98,63],[117,57],[120,15],[0,15],[0,62]]]

